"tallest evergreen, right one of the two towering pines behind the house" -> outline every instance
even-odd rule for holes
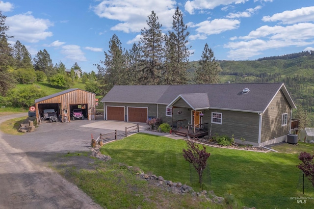
[[[164,72],[165,84],[186,84],[187,66],[190,51],[186,47],[187,26],[183,22],[183,14],[177,7],[173,17],[172,31],[165,38],[166,70]]]

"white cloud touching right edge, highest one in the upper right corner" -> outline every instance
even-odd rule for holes
[[[283,24],[305,23],[314,21],[314,6],[302,7],[300,9],[288,10],[281,13],[276,13],[273,16],[264,16],[264,22],[277,22]]]

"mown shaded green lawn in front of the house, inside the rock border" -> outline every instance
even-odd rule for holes
[[[301,146],[298,149],[302,150]],[[314,150],[314,145],[306,146],[312,146]],[[138,166],[145,173],[191,185],[189,164],[182,155],[185,147],[183,140],[138,133],[105,144],[102,152],[116,161]],[[206,187],[216,195],[224,196],[231,190],[236,200],[246,207],[304,209],[314,205],[314,200],[297,204],[297,200],[291,199],[314,197],[313,187],[306,188],[305,194],[302,194],[300,170],[296,167],[300,163],[298,154],[256,153],[212,147],[207,147],[207,151],[211,155],[208,161],[210,185]],[[193,188],[200,190],[197,185],[193,185]]]

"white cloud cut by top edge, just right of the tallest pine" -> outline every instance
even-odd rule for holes
[[[219,5],[238,4],[245,1],[248,0],[188,0],[184,8],[188,13],[194,14],[194,10],[214,9]]]

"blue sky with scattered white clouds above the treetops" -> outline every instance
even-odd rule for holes
[[[129,50],[155,11],[167,33],[176,7],[190,35],[188,46],[199,60],[207,43],[218,60],[255,60],[314,50],[313,0],[4,0],[0,10],[10,26],[9,41],[24,44],[35,57],[46,49],[53,64],[84,72],[105,60],[116,34]]]

